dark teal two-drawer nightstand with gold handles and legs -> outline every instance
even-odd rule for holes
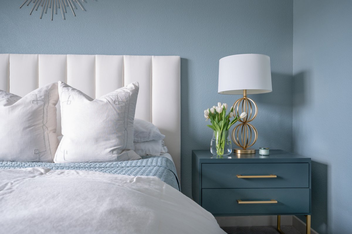
[[[311,159],[283,150],[270,155],[192,150],[192,196],[214,216],[306,215],[310,234]]]

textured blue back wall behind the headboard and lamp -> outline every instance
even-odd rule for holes
[[[48,13],[41,20],[39,11],[29,15],[22,2],[1,2],[0,53],[181,56],[184,194],[191,196],[191,150],[210,148],[203,110],[240,98],[217,93],[222,57],[270,56],[273,92],[249,95],[259,107],[254,148],[292,151],[293,1],[86,1],[87,12],[73,17],[68,9],[66,20],[60,13],[54,21]]]

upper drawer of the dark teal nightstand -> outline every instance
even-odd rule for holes
[[[309,163],[202,163],[202,188],[309,188]]]

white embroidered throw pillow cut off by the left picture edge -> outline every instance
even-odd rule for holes
[[[57,83],[23,98],[0,90],[0,161],[52,162],[58,146]]]

